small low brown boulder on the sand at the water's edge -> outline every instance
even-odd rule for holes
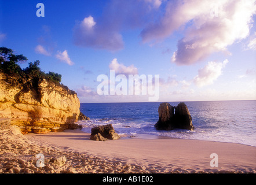
[[[111,140],[120,139],[120,136],[115,132],[115,129],[113,128],[112,124],[101,125],[92,128],[92,134],[90,139],[104,140],[101,137]]]

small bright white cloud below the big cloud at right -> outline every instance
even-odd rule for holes
[[[222,74],[222,69],[228,63],[228,60],[223,62],[208,62],[202,69],[198,70],[198,75],[193,79],[193,82],[198,87],[213,84],[214,81]]]

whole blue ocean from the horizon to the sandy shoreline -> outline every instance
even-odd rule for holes
[[[90,117],[78,121],[90,133],[97,125],[112,124],[119,135],[147,134],[181,139],[212,140],[256,146],[256,101],[185,102],[194,131],[158,131],[158,107],[162,102],[81,103],[81,112]],[[169,102],[177,106],[180,102]],[[150,138],[150,137],[149,137]]]

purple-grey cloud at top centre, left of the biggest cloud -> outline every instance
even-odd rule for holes
[[[109,1],[101,17],[85,17],[75,25],[74,43],[94,49],[122,50],[125,43],[121,32],[144,27],[161,5],[162,0]]]

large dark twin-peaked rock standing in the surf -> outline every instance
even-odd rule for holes
[[[175,113],[174,113],[175,110]],[[193,131],[192,117],[185,103],[173,107],[170,103],[161,103],[158,108],[159,120],[156,129],[172,130],[174,128],[189,129]]]

